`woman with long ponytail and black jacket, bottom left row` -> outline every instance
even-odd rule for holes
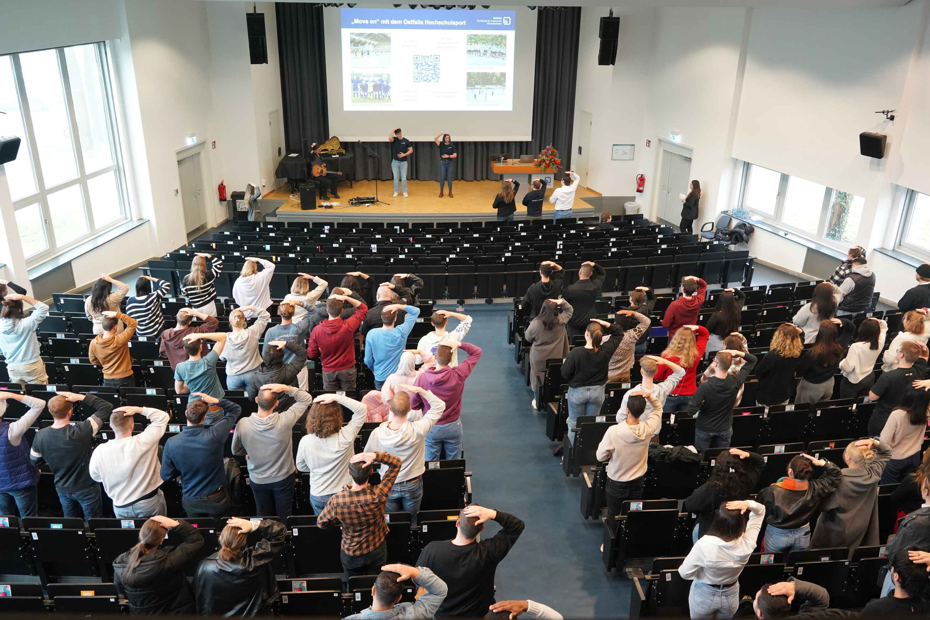
[[[162,546],[171,532],[168,545]],[[113,585],[129,601],[132,615],[193,615],[193,590],[183,567],[204,546],[204,537],[187,521],[161,515],[139,530],[139,544],[113,561]]]

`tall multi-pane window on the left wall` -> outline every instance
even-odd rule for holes
[[[7,180],[27,264],[126,219],[102,43],[0,56],[0,135],[22,140]]]

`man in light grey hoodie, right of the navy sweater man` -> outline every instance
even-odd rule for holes
[[[286,393],[294,404],[276,413],[280,394]],[[248,478],[255,495],[259,517],[291,515],[294,501],[294,449],[291,431],[307,411],[313,397],[302,389],[281,383],[261,386],[255,399],[259,413],[244,417],[233,435],[233,455],[246,455]]]

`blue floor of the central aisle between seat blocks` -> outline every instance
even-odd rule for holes
[[[483,355],[466,383],[461,416],[474,501],[526,523],[498,568],[497,598],[538,600],[565,617],[626,617],[629,582],[604,572],[601,521],[585,521],[578,508],[584,481],[565,478],[545,416],[530,407],[532,394],[507,345],[508,308],[466,306],[474,317],[466,340]],[[482,535],[497,532],[491,523]]]

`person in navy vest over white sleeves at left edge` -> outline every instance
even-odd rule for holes
[[[19,401],[29,407],[25,416],[15,422],[3,419],[7,413],[7,400]],[[37,517],[39,500],[36,485],[39,468],[29,460],[29,442],[23,434],[46,408],[46,402],[34,396],[11,391],[0,391],[0,514]]]

